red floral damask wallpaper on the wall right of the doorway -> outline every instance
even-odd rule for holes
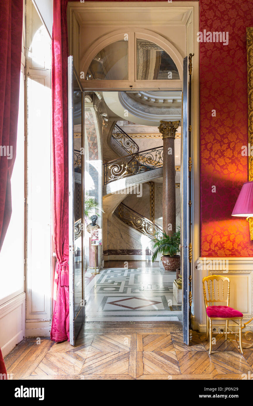
[[[200,43],[201,256],[250,257],[249,225],[231,212],[248,180],[241,148],[248,138],[246,27],[253,26],[253,0],[199,0],[199,7],[199,31],[229,32],[228,45]]]

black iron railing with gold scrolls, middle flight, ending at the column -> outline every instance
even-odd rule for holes
[[[146,149],[131,155],[125,155],[104,166],[104,185],[127,176],[161,168],[163,164],[163,147]]]

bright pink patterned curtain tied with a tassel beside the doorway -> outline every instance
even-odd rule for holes
[[[54,312],[51,340],[69,341],[69,210],[67,0],[54,0],[52,35],[52,146],[54,178]]]

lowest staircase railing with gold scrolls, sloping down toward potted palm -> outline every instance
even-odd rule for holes
[[[154,238],[155,235],[162,233],[162,229],[154,224],[151,220],[143,217],[141,214],[135,212],[124,203],[120,203],[117,211],[115,212],[120,220],[125,224],[140,231],[142,234],[147,235],[149,238]]]

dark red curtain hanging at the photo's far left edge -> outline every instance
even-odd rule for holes
[[[16,157],[23,1],[0,0],[0,250],[11,219],[11,174]],[[12,148],[12,158],[4,156]],[[11,155],[10,155],[11,156]],[[10,158],[9,156],[9,158]],[[0,374],[6,374],[0,350]]]

